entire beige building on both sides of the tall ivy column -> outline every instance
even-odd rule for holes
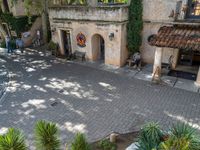
[[[55,2],[49,11],[53,41],[63,55],[81,51],[89,60],[123,66],[128,57],[128,4],[97,1],[88,0],[87,6]],[[143,7],[143,62],[154,64],[155,78],[160,78],[165,63],[196,74],[199,85],[200,0],[143,0]]]

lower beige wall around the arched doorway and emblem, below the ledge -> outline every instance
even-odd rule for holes
[[[126,25],[123,25],[126,26]],[[59,43],[60,50],[64,54],[64,47],[61,37],[61,31],[68,30],[71,33],[72,51],[86,52],[88,60],[96,60],[95,50],[92,43],[94,35],[100,35],[105,41],[105,64],[122,66],[127,58],[126,40],[122,40],[122,36],[125,36],[124,27],[121,24],[102,24],[94,22],[76,22],[71,23],[52,23],[52,28],[56,28],[56,32],[53,33],[53,41]],[[77,45],[76,36],[79,33],[83,33],[86,36],[86,47],[80,47]],[[109,34],[114,33],[114,39],[109,39]]]

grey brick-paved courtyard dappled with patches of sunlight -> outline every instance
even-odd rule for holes
[[[1,132],[22,129],[32,145],[37,120],[56,122],[63,145],[76,132],[90,141],[111,132],[138,130],[148,121],[184,122],[200,130],[200,95],[127,78],[97,68],[66,63],[43,53],[6,57],[10,87],[0,105]]]

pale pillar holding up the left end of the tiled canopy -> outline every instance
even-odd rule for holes
[[[154,66],[153,66],[154,80],[160,80],[161,77],[162,53],[163,53],[163,48],[156,47]]]

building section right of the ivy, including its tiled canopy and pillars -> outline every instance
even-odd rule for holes
[[[193,72],[200,85],[200,0],[143,0],[143,61],[154,63],[161,76],[163,63]]]

